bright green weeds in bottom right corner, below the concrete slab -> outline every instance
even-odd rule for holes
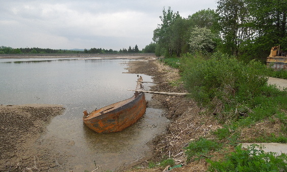
[[[257,149],[257,147],[259,149]],[[262,146],[251,145],[243,149],[235,147],[235,152],[225,157],[224,161],[211,161],[209,171],[286,171],[286,154],[265,153]]]

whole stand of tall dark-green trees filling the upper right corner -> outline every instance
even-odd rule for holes
[[[286,1],[219,0],[220,50],[243,61],[266,61],[271,47],[287,48]]]

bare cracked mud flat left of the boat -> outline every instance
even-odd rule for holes
[[[0,105],[0,171],[48,170],[57,164],[45,156],[49,148],[35,147],[60,105]]]

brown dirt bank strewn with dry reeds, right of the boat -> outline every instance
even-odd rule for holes
[[[142,73],[153,76],[158,83],[151,88],[151,91],[157,92],[176,92],[186,93],[183,85],[178,79],[180,78],[179,71],[164,65],[156,59],[147,61],[132,61],[130,62],[130,73]],[[148,161],[158,162],[162,157],[173,157],[177,163],[185,163],[183,147],[187,146],[188,142],[199,137],[209,135],[211,130],[215,130],[220,125],[210,118],[209,115],[200,114],[200,109],[193,100],[187,99],[184,96],[152,96],[153,101],[148,103],[148,106],[155,108],[166,108],[166,117],[172,120],[167,128],[165,135],[157,136],[150,145],[153,147],[152,156],[147,157],[142,163],[134,164],[135,166],[147,167]],[[196,162],[190,164],[193,166],[191,171],[205,171],[207,166],[205,163]],[[163,169],[138,169],[137,171],[162,171]],[[177,169],[178,170],[178,169]],[[179,170],[186,170],[179,169]]]

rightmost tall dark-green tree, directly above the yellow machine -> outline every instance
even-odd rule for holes
[[[271,47],[287,51],[286,0],[245,0],[249,11],[247,27],[254,30],[242,47],[245,57],[266,60]]]

